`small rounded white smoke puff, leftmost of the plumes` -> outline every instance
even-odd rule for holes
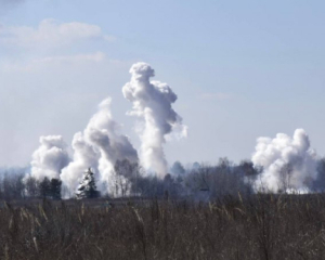
[[[41,136],[40,146],[32,154],[30,176],[37,180],[58,178],[69,162],[67,145],[61,135]]]

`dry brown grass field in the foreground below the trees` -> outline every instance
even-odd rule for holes
[[[1,259],[324,259],[325,195],[0,209]]]

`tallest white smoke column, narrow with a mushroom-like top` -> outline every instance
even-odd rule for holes
[[[182,118],[171,107],[178,96],[168,84],[150,80],[155,76],[155,72],[146,63],[134,64],[130,74],[131,81],[122,88],[122,93],[133,103],[133,109],[128,115],[144,120],[142,128],[139,129],[142,162],[146,169],[164,177],[167,173],[164,153],[166,136],[173,130],[179,131],[181,136],[186,135]]]

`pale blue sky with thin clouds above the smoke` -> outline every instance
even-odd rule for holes
[[[39,136],[67,143],[98,104],[135,147],[121,88],[133,63],[178,94],[188,136],[168,161],[249,159],[259,136],[303,128],[325,155],[325,2],[0,0],[0,166],[24,166]]]

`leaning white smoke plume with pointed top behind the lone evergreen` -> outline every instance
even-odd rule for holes
[[[117,159],[138,161],[136,151],[130,140],[119,133],[120,126],[112,117],[110,102],[109,98],[104,100],[86,130],[74,138],[74,160],[61,174],[61,179],[70,190],[77,187],[78,180],[89,167],[101,182],[108,182]]]

